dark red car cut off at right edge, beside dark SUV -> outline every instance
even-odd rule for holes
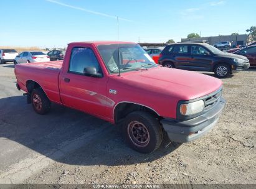
[[[234,54],[247,57],[250,62],[250,67],[256,67],[256,45],[247,46],[237,50]]]

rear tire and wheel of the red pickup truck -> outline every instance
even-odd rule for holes
[[[36,88],[31,93],[31,102],[37,114],[47,114],[50,111],[50,100],[42,88]]]

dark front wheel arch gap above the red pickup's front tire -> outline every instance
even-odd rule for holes
[[[117,103],[113,109],[113,118],[115,124],[120,123],[125,117],[133,111],[146,111],[155,118],[161,118],[157,111],[144,104],[133,103],[130,101],[122,101]]]

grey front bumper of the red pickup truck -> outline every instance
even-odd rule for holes
[[[217,124],[224,105],[225,99],[220,97],[216,106],[205,114],[186,121],[162,119],[161,124],[163,124],[164,130],[167,132],[171,141],[194,141],[206,134]]]

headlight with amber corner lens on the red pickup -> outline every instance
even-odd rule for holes
[[[193,103],[181,104],[179,111],[183,116],[189,116],[201,112],[204,109],[204,101],[199,100]]]

